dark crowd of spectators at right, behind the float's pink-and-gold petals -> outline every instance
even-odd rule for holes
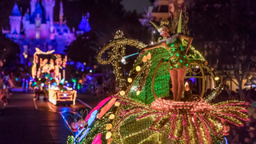
[[[206,90],[206,95],[210,93],[210,89]],[[244,89],[242,93],[245,96],[245,101],[249,102],[247,110],[250,120],[240,127],[229,123],[230,132],[226,139],[229,144],[256,144],[256,89]],[[214,99],[214,102],[225,102],[227,100],[240,100],[239,90],[230,90],[229,86],[225,86],[222,93]]]

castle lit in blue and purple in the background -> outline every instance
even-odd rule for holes
[[[18,5],[14,5],[14,9],[10,15],[10,30],[2,30],[6,34],[6,38],[13,39],[20,46],[21,64],[29,62],[29,58],[33,58],[35,48],[42,51],[55,50],[56,54],[64,54],[66,46],[73,42],[75,37],[74,28],[66,25],[63,19],[63,5],[59,3],[59,21],[54,22],[54,0],[38,0],[30,1],[30,10],[22,16]],[[82,17],[77,34],[83,34],[90,31],[87,17]]]

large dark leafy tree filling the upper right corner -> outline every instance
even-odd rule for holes
[[[255,62],[256,3],[253,1],[197,0],[190,9],[190,28],[195,41],[206,50],[210,64],[239,87]],[[200,45],[199,45],[200,46]]]

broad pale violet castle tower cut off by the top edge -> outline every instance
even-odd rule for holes
[[[54,0],[42,0],[42,6],[45,9],[46,12],[46,19],[50,21],[50,32],[54,32],[54,6],[55,1]]]

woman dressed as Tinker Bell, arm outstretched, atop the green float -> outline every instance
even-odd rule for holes
[[[154,26],[157,28],[163,39],[156,44],[146,46],[140,54],[147,50],[158,49],[160,47],[164,47],[168,50],[168,66],[170,68],[169,72],[172,81],[174,101],[180,101],[184,90],[186,67],[189,65],[186,53],[189,50],[193,38],[180,33],[170,34],[170,25],[167,19],[162,20],[160,26]],[[187,42],[186,47],[183,47],[182,45],[183,40],[186,40]]]

